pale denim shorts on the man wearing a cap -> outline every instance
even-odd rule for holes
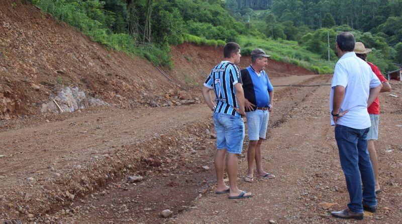
[[[267,110],[255,110],[246,112],[247,132],[250,141],[260,138],[265,139],[267,134],[269,112]]]

